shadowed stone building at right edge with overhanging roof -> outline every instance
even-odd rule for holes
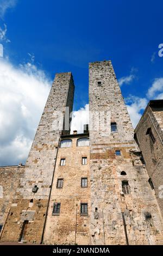
[[[136,126],[135,138],[163,216],[163,100],[149,101]]]

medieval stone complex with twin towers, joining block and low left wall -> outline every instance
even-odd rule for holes
[[[26,165],[0,168],[0,241],[163,244],[160,207],[111,62],[90,63],[90,129],[70,135],[73,94],[71,72],[57,74]]]

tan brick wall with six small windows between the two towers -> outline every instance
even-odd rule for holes
[[[77,136],[72,138],[71,148],[59,148],[58,151],[43,240],[47,244],[90,244],[89,147],[77,147],[77,139]],[[86,165],[82,165],[82,157],[87,157]],[[65,166],[60,166],[62,158],[66,159]],[[64,179],[63,188],[57,188],[59,178]],[[87,188],[81,187],[81,178],[87,178]],[[54,203],[61,204],[59,216],[52,215]],[[88,204],[88,216],[80,216],[80,203]]]

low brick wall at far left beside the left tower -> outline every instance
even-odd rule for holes
[[[0,167],[0,224],[3,227],[23,172],[22,165]]]

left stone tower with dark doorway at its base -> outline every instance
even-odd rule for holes
[[[60,135],[70,133],[70,130],[63,131],[65,108],[69,107],[72,111],[73,95],[71,72],[57,74],[30,149],[24,175],[11,204],[1,241],[21,241],[24,233],[28,242],[40,243],[42,240]],[[54,130],[58,114],[63,114],[64,118],[60,130]]]

